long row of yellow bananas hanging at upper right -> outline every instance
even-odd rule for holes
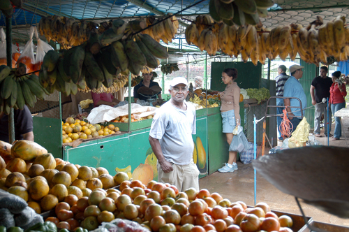
[[[277,56],[284,61],[288,56],[295,60],[297,53],[308,63],[329,64],[329,57],[337,61],[349,58],[349,29],[344,27],[345,21],[345,17],[338,16],[323,24],[318,16],[307,27],[278,25],[272,30],[265,29],[260,23],[238,27],[215,22],[205,29],[199,25],[200,33],[195,21],[186,29],[186,41],[197,45],[201,51],[206,50],[209,55],[216,55],[221,50],[230,57],[242,55],[243,61],[251,59],[255,65],[258,61],[265,64],[267,58],[273,60]]]

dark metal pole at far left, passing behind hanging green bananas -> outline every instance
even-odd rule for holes
[[[12,68],[12,21],[11,18],[6,17],[6,59],[7,66]],[[12,144],[15,141],[15,116],[13,108],[10,109],[8,115],[8,142]]]

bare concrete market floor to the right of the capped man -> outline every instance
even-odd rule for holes
[[[340,140],[332,141],[329,139],[329,145],[348,147],[344,138],[349,139],[349,118],[342,120],[342,137]],[[334,124],[332,125],[332,134],[334,131]],[[323,135],[323,130],[321,131]],[[323,145],[327,145],[327,138],[317,138]],[[282,142],[279,142],[279,145]],[[349,143],[349,141],[348,141]],[[267,149],[266,149],[267,150]],[[266,151],[267,153],[267,151]],[[247,205],[254,204],[254,171],[251,164],[242,164],[237,162],[238,171],[234,173],[218,173],[215,172],[207,177],[200,179],[200,189],[208,189],[210,193],[218,192],[223,198],[228,198],[230,201],[244,201]],[[289,212],[300,215],[301,212],[297,206],[295,198],[288,194],[284,194],[279,189],[276,189],[272,184],[267,182],[262,176],[257,173],[257,202],[265,202],[269,204],[272,210],[279,210],[281,212]],[[312,217],[315,221],[325,222],[329,224],[336,224],[349,227],[349,219],[341,219],[334,215],[329,215],[322,210],[318,210],[311,205],[301,203],[302,208],[308,217]]]

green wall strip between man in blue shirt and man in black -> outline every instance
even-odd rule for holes
[[[304,66],[304,68],[303,68],[303,76],[301,79],[299,79],[299,82],[302,84],[302,87],[306,94],[306,101],[307,101],[306,107],[309,107],[309,106],[312,106],[311,94],[310,94],[311,82],[316,76],[319,75],[319,68],[315,66],[315,64],[308,64],[302,60],[301,60],[301,65]],[[315,113],[315,108],[309,108],[305,110],[306,121],[308,121],[311,128],[314,128],[314,113]]]

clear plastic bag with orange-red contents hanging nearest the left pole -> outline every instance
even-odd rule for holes
[[[27,66],[27,73],[31,73],[35,71],[34,65],[35,65],[35,58],[34,58],[34,43],[33,43],[33,36],[34,36],[35,27],[30,27],[29,32],[29,41],[24,46],[22,55],[20,55],[20,58],[17,60],[17,66],[19,63],[25,64]]]

